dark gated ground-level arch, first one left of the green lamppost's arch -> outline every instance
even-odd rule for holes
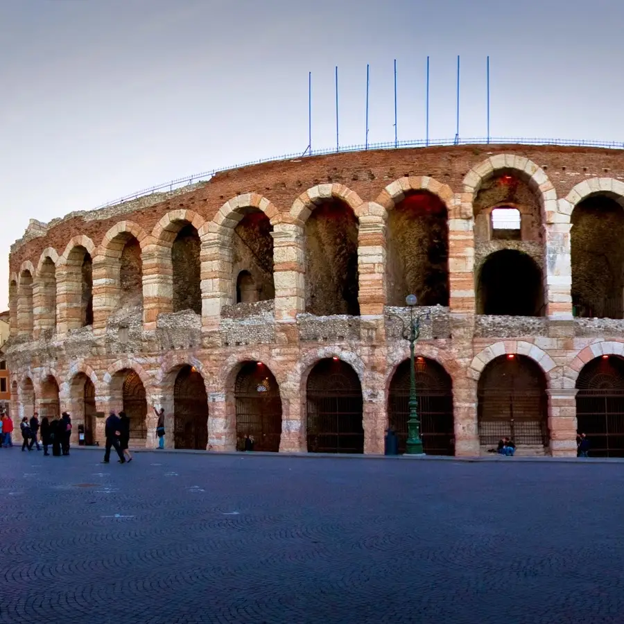
[[[306,385],[308,451],[363,453],[360,379],[347,363],[326,358],[311,370]]]

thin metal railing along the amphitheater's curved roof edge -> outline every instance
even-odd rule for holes
[[[197,182],[207,182],[211,177],[216,175],[216,173],[220,173],[221,171],[229,171],[231,169],[239,169],[241,167],[248,167],[257,164],[263,164],[267,162],[278,162],[280,160],[292,160],[292,159],[302,159],[309,158],[311,156],[324,156],[329,154],[338,154],[343,152],[363,152],[363,151],[371,151],[371,150],[395,150],[401,148],[422,148],[422,147],[436,147],[436,146],[453,146],[453,145],[556,145],[562,147],[596,147],[596,148],[607,148],[607,149],[624,149],[624,141],[591,141],[584,139],[529,139],[526,137],[513,137],[513,138],[500,138],[500,137],[490,137],[489,139],[485,137],[476,137],[469,139],[429,139],[426,141],[425,139],[416,139],[411,141],[385,141],[383,143],[370,143],[366,144],[358,144],[358,145],[348,145],[348,146],[340,146],[340,148],[336,149],[336,147],[323,149],[323,150],[311,150],[306,149],[306,151],[302,154],[292,153],[292,154],[284,154],[281,156],[273,156],[270,158],[262,158],[259,160],[251,160],[249,162],[242,162],[239,164],[235,164],[227,167],[220,167],[211,169],[211,171],[202,171],[201,173],[193,173],[191,175],[185,175],[184,177],[178,177],[176,180],[170,180],[169,182],[163,182],[162,184],[155,184],[153,187],[148,187],[147,189],[142,189],[141,191],[135,191],[135,193],[130,193],[130,195],[126,195],[125,197],[120,197],[116,200],[112,200],[110,202],[106,202],[105,204],[101,204],[97,209],[107,208],[110,206],[114,206],[117,204],[121,204],[123,202],[128,202],[131,200],[138,199],[139,197],[144,197],[147,195],[151,195],[152,193],[158,192],[167,192],[173,191],[174,189],[180,189],[184,186],[189,186],[190,184],[196,184]]]

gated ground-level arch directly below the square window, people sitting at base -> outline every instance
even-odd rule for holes
[[[478,383],[478,426],[482,446],[510,437],[518,447],[548,446],[546,376],[539,364],[517,354],[494,358]]]

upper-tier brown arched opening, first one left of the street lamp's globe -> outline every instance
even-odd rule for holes
[[[339,200],[315,207],[305,225],[306,312],[358,316],[358,220]]]

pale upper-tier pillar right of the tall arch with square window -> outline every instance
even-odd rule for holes
[[[544,225],[544,299],[553,320],[572,319],[572,259],[569,216],[547,212]],[[576,439],[576,437],[575,437]]]

